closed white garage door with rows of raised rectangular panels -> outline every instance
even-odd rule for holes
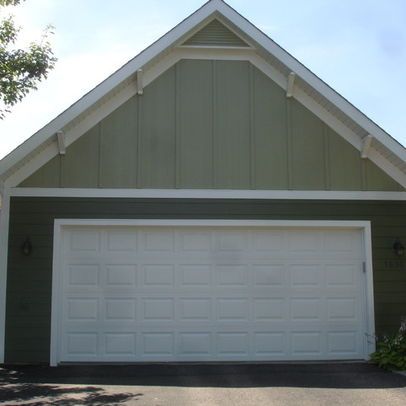
[[[56,361],[364,358],[362,246],[356,229],[65,226]]]

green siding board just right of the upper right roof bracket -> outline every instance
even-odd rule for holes
[[[291,102],[292,188],[323,190],[323,123],[297,101]]]

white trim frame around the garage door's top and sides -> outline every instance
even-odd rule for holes
[[[359,229],[364,240],[365,263],[365,337],[363,342],[364,357],[369,359],[369,354],[375,351],[375,342],[369,337],[375,334],[375,313],[373,293],[373,269],[371,251],[371,224],[369,221],[307,221],[307,220],[105,220],[105,219],[56,219],[54,221],[54,254],[52,264],[52,309],[51,309],[51,345],[50,365],[57,366],[60,354],[60,308],[59,287],[61,283],[61,243],[62,232],[66,226],[123,226],[123,227],[245,227],[245,228],[307,228],[307,229]],[[361,270],[360,270],[361,272]]]

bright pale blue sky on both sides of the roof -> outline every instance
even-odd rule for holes
[[[204,0],[26,0],[3,10],[19,46],[52,24],[48,79],[0,120],[0,158],[204,4]],[[406,0],[228,0],[406,145]]]

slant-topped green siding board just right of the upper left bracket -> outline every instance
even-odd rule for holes
[[[139,135],[141,187],[175,187],[175,99],[174,67],[144,89]]]

